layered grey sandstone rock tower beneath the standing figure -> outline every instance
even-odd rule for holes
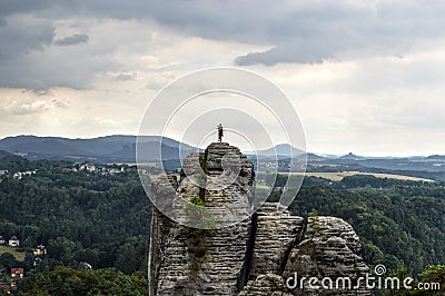
[[[214,221],[228,223],[216,230],[195,229],[154,207],[150,295],[370,295],[363,285],[326,290],[303,283],[291,288],[288,278],[296,274],[334,280],[348,276],[354,282],[368,273],[358,256],[358,237],[342,219],[312,217],[305,223],[275,203],[246,216],[254,200],[255,172],[238,148],[211,144],[205,154],[186,159],[182,169],[179,181],[172,176],[152,180],[152,198],[165,201],[161,210],[175,213],[199,197]],[[218,181],[227,179],[230,186],[219,188]],[[199,188],[202,180],[207,189]],[[239,217],[240,223],[231,223]]]

